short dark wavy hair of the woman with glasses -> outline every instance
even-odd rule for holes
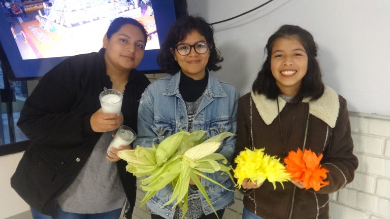
[[[178,19],[170,27],[167,37],[158,52],[157,63],[162,71],[174,75],[180,69],[179,64],[172,55],[171,48],[174,48],[177,43],[184,40],[192,30],[197,30],[210,43],[210,57],[206,67],[213,71],[221,69],[221,66],[217,64],[223,61],[223,58],[215,47],[213,27],[201,17],[185,16]]]

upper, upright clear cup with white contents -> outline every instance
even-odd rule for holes
[[[120,114],[122,99],[123,95],[118,90],[108,89],[100,93],[99,100],[102,105],[103,113]]]

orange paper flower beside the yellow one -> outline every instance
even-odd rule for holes
[[[322,154],[318,156],[306,150],[302,152],[298,149],[297,152],[290,151],[288,156],[284,158],[286,164],[286,172],[291,174],[291,178],[296,181],[303,182],[305,189],[313,188],[318,191],[320,188],[329,185],[329,181],[324,181],[327,178],[329,170],[321,167],[319,163],[322,159]]]

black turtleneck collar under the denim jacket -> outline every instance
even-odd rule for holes
[[[182,71],[180,71],[179,91],[183,97],[183,100],[186,102],[196,101],[200,96],[202,96],[208,81],[209,72],[207,69],[205,77],[198,81],[191,79],[190,77],[184,75]]]

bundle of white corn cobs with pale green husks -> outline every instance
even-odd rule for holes
[[[170,184],[173,189],[172,196],[164,206],[171,203],[174,203],[173,207],[179,205],[184,216],[188,207],[188,184],[189,180],[192,179],[199,192],[216,213],[198,176],[227,189],[204,173],[221,171],[228,174],[233,181],[233,176],[230,173],[232,167],[225,166],[228,160],[221,154],[214,152],[218,150],[224,138],[234,134],[223,132],[204,141],[205,133],[206,131],[202,130],[192,133],[180,131],[164,139],[158,145],[153,142],[152,148],[137,145],[135,150],[118,152],[118,157],[128,163],[127,171],[138,177],[148,175],[141,180],[141,188],[146,191],[146,195],[141,201],[142,205],[150,200],[157,191]]]

